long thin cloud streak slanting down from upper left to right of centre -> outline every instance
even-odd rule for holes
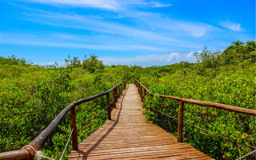
[[[105,22],[92,18],[90,16],[82,16],[78,14],[58,14],[54,12],[42,12],[39,14],[26,14],[27,16],[34,17],[32,19],[26,19],[32,22],[39,22],[50,26],[63,26],[74,29],[93,30],[104,34],[115,34],[131,38],[142,39],[159,39],[168,42],[183,43],[184,41],[170,36],[158,34],[151,30],[142,30],[141,28],[124,26],[113,22]],[[45,20],[46,19],[46,20]],[[72,24],[72,25],[71,25]]]

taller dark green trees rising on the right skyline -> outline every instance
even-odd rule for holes
[[[194,56],[197,58],[198,63],[195,64],[195,69],[198,74],[206,75],[207,70],[211,69],[212,72],[218,72],[222,66],[238,66],[240,63],[256,61],[255,54],[256,42],[232,42],[231,46],[227,47],[223,52],[211,52],[207,47],[202,49],[201,53],[195,52]],[[211,74],[213,77],[216,73]]]

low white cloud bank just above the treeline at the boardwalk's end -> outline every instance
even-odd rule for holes
[[[170,54],[149,54],[128,58],[101,57],[99,58],[106,65],[138,65],[138,66],[164,66],[177,62],[195,62],[194,52],[181,54],[172,52]]]

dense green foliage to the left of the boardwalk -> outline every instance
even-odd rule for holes
[[[8,59],[5,61],[9,61]],[[122,81],[122,69],[90,74],[82,67],[44,68],[5,64],[0,68],[0,151],[20,150],[50,124],[70,102],[109,90]],[[3,74],[6,73],[6,74]],[[111,96],[112,98],[112,96]],[[77,122],[106,107],[106,97],[76,107]],[[106,111],[78,126],[78,142],[105,122]],[[42,148],[51,158],[59,158],[70,134],[69,114]],[[71,150],[68,146],[66,158]]]

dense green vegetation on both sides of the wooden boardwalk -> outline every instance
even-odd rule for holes
[[[196,63],[180,62],[168,66],[104,66],[95,55],[67,58],[66,66],[37,66],[25,59],[0,57],[0,151],[18,150],[33,140],[70,102],[109,90],[124,79],[136,78],[156,93],[151,106],[178,117],[178,102],[159,98],[158,94],[219,102],[255,110],[255,42],[233,42],[223,52],[205,47],[194,53]],[[152,121],[177,135],[178,122],[148,109]],[[98,98],[77,107],[77,122],[82,122],[106,107],[106,98]],[[106,120],[106,111],[78,127],[78,142]],[[184,121],[214,131],[210,134],[193,126],[184,126],[183,138],[198,150],[218,159],[238,158],[255,150],[256,118],[185,104]],[[59,158],[70,133],[67,115],[42,151]],[[230,139],[222,138],[226,136]],[[71,147],[69,147],[71,150]],[[67,154],[66,154],[67,156]],[[253,158],[253,157],[252,157]]]

